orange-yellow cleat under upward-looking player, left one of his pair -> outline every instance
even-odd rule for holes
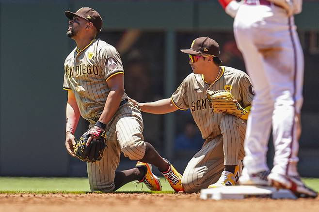
[[[152,172],[151,164],[138,161],[135,167],[144,167],[147,169],[144,178],[139,181],[140,183],[143,182],[151,191],[162,190],[159,178]]]

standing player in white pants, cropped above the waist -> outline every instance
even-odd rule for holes
[[[317,197],[297,171],[303,50],[293,15],[302,11],[302,0],[245,0],[240,5],[234,0],[220,2],[235,16],[235,39],[255,88],[239,182],[270,183],[290,189],[298,197]],[[269,171],[266,153],[271,127],[275,155]]]

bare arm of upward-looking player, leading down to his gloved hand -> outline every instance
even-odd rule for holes
[[[107,124],[120,106],[122,96],[124,95],[123,74],[116,74],[107,81],[111,91],[106,99],[103,112],[99,121]]]

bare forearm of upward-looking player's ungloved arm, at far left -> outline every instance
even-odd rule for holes
[[[66,103],[66,129],[65,132],[74,134],[80,119],[80,110],[75,99],[74,93],[68,91]]]

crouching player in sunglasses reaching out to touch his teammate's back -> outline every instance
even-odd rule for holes
[[[213,112],[206,91],[227,90],[247,108],[254,96],[250,79],[243,71],[220,66],[219,45],[213,39],[197,38],[191,49],[181,51],[189,54],[193,73],[184,79],[172,97],[150,103],[131,101],[147,113],[191,110],[205,143],[184,171],[182,185],[186,192],[198,192],[208,186],[235,185],[242,169],[246,120]]]

